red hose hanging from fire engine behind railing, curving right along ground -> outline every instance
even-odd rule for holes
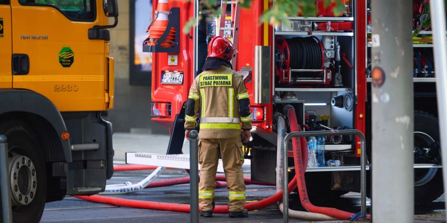
[[[290,130],[292,132],[297,132],[297,131],[300,132],[301,128],[299,128],[299,126],[298,126],[297,115],[295,114],[295,110],[293,109],[293,107],[291,107],[287,110],[287,117],[289,118]],[[297,138],[297,137],[295,137],[295,138]],[[335,208],[318,207],[318,206],[314,206],[314,205],[312,205],[312,203],[310,203],[309,198],[307,196],[306,182],[304,180],[304,172],[305,172],[305,168],[306,168],[306,166],[304,166],[304,164],[307,164],[307,162],[303,162],[303,161],[304,160],[307,161],[307,150],[301,149],[301,145],[305,145],[305,146],[303,146],[303,148],[307,148],[307,142],[304,137],[300,137],[300,141],[301,141],[301,144],[297,143],[296,144],[297,146],[294,146],[293,149],[294,149],[294,161],[295,161],[295,170],[296,170],[295,171],[295,180],[298,182],[298,192],[299,192],[299,198],[301,200],[302,207],[304,209],[306,209],[308,212],[324,214],[324,215],[328,215],[328,216],[331,216],[331,217],[334,217],[337,219],[342,219],[342,220],[350,219],[354,215],[354,213],[340,211]],[[306,151],[306,153],[304,153],[302,151]],[[303,157],[304,154],[306,154],[305,157]],[[370,216],[368,216],[368,218],[370,218]]]

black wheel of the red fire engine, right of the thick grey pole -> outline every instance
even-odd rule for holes
[[[423,111],[414,112],[414,146],[429,148],[439,142],[438,118]],[[425,204],[438,199],[443,193],[442,168],[416,168],[414,170],[414,203]]]

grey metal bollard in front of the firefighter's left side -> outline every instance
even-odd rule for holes
[[[192,130],[189,133],[189,169],[190,169],[190,220],[199,223],[199,133]]]

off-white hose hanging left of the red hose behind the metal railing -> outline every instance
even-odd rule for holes
[[[282,176],[282,169],[283,169],[283,141],[284,137],[286,136],[286,121],[284,120],[284,117],[281,115],[277,115],[278,120],[277,123],[277,130],[278,130],[278,140],[277,140],[277,148],[276,148],[276,191],[279,192],[283,189],[283,176]],[[307,165],[307,164],[306,164]],[[287,173],[284,173],[287,174]],[[283,203],[280,201],[278,202],[278,206],[280,208],[281,213],[284,213],[284,207]],[[308,220],[308,221],[334,221],[338,220],[335,218],[332,218],[327,215],[318,214],[318,213],[312,213],[312,212],[301,212],[301,211],[295,211],[292,209],[289,209],[289,217],[294,219],[301,219],[301,220]]]

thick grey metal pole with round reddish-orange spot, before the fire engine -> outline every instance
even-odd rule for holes
[[[374,222],[414,218],[412,11],[408,0],[372,1]]]

